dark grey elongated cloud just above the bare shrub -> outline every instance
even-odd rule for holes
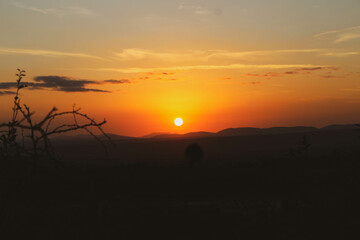
[[[127,79],[122,80],[103,80],[94,81],[87,79],[72,79],[65,76],[37,76],[33,82],[24,82],[32,90],[53,90],[59,92],[103,92],[109,93],[108,90],[97,88],[88,88],[88,85],[102,84],[124,84],[130,83]],[[17,85],[15,82],[0,82],[0,90],[14,89]],[[1,94],[3,93],[3,94]],[[0,95],[12,94],[13,91],[0,91]]]

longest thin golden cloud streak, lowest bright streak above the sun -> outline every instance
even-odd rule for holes
[[[174,66],[174,67],[156,67],[156,68],[86,68],[84,70],[104,71],[104,72],[121,72],[121,73],[147,73],[157,71],[188,71],[188,70],[236,70],[236,69],[287,69],[287,68],[315,68],[324,67],[311,64],[294,64],[294,65],[246,65],[246,64],[230,64],[230,65],[193,65],[193,66]]]

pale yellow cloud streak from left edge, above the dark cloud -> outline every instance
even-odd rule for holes
[[[105,60],[105,58],[89,55],[86,53],[60,52],[41,49],[24,49],[24,48],[2,48],[0,47],[0,55],[34,55],[43,57],[78,57]]]

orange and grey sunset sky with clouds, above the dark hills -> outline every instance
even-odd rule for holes
[[[1,0],[0,122],[16,68],[38,116],[76,104],[121,135],[360,122],[359,9],[359,0]]]

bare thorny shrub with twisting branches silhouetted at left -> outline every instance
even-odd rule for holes
[[[20,90],[27,87],[22,82],[23,77],[26,76],[25,71],[17,69],[16,76],[17,90],[14,96],[12,118],[8,123],[0,124],[0,158],[6,160],[30,158],[33,161],[33,167],[36,168],[37,161],[40,158],[54,157],[49,137],[80,129],[85,130],[105,146],[104,142],[91,130],[91,128],[96,128],[111,142],[109,136],[102,129],[106,120],[96,122],[87,114],[80,112],[81,109],[75,108],[75,106],[72,111],[67,112],[58,112],[58,109],[53,107],[43,119],[35,122],[33,119],[34,112],[26,104],[21,104]],[[72,116],[73,122],[53,126],[54,120],[66,116]],[[19,141],[20,133],[23,139],[22,144]],[[30,139],[30,145],[25,144],[25,138]]]

